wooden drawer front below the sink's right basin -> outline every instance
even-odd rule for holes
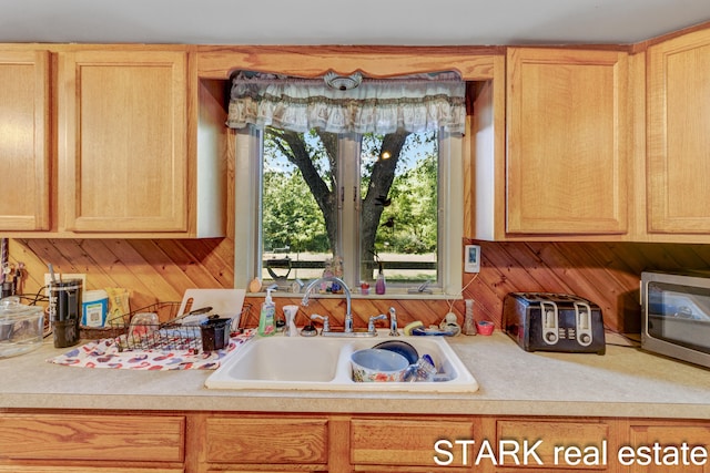
[[[471,440],[469,421],[355,419],[351,422],[353,464],[437,466],[435,443]],[[452,452],[452,466],[462,466],[460,451]]]

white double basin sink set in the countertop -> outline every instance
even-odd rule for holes
[[[419,357],[434,360],[436,381],[355,382],[351,354],[386,340],[412,345]],[[443,379],[443,380],[442,380]],[[475,392],[476,379],[445,340],[445,337],[389,337],[387,331],[371,338],[255,337],[229,354],[205,381],[210,389]]]

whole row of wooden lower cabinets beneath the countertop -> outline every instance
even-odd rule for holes
[[[710,473],[710,421],[0,411],[0,473]]]

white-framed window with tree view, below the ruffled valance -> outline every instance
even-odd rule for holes
[[[460,289],[460,134],[248,125],[236,133],[237,287],[298,290],[331,270],[354,289]],[[355,292],[355,290],[353,290]]]

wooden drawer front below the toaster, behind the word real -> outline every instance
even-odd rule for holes
[[[496,423],[497,441],[501,440],[515,441],[520,446],[520,453],[517,457],[520,460],[521,467],[545,466],[548,469],[561,470],[605,470],[607,466],[602,464],[602,443],[609,439],[609,426],[604,423],[596,422],[541,422],[541,421],[498,421]],[[539,456],[542,465],[539,465],[532,456],[528,456],[528,464],[523,464],[523,445],[527,440],[529,448],[541,440],[542,443],[535,449],[535,453]],[[564,448],[557,452],[556,448]],[[571,452],[579,449],[582,452],[579,459],[568,456],[565,452]],[[587,449],[587,450],[586,450]],[[587,453],[586,462],[584,460]],[[595,453],[599,455],[595,459]],[[607,448],[607,454],[608,454]],[[514,464],[513,457],[503,457],[505,465],[517,466]],[[595,461],[597,460],[597,461]],[[595,464],[598,463],[598,464]]]

